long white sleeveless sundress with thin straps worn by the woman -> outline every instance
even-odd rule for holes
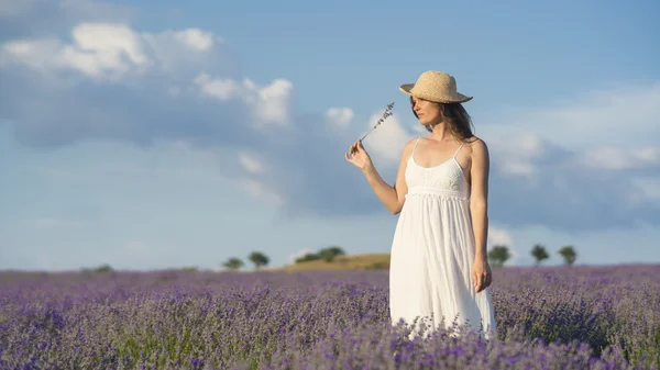
[[[444,317],[450,328],[455,318],[491,338],[496,332],[491,291],[476,293],[472,279],[475,240],[470,187],[455,159],[463,145],[450,159],[427,168],[415,161],[417,143],[419,138],[408,159],[408,193],[392,243],[392,323],[403,318],[413,324],[419,317],[432,329]]]

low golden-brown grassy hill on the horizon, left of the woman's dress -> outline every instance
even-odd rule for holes
[[[272,271],[309,270],[377,270],[389,268],[389,254],[364,254],[339,256],[332,262],[323,260],[307,261],[273,268]]]

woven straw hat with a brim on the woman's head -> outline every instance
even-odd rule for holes
[[[472,100],[457,91],[457,79],[448,74],[428,70],[419,76],[415,83],[399,87],[404,93],[437,103],[464,103]]]

